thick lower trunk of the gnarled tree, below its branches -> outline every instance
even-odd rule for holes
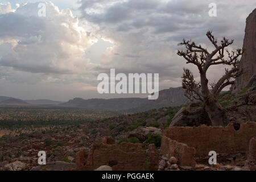
[[[226,116],[224,109],[213,96],[209,96],[209,99],[205,103],[205,110],[209,115],[212,126],[228,125],[229,119]]]

